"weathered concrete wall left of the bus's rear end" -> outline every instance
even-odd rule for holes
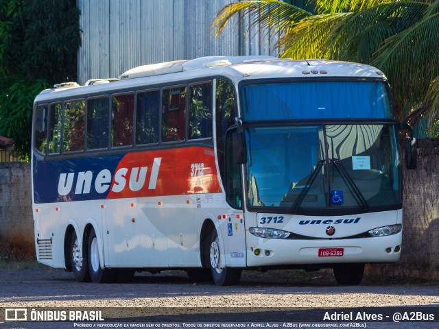
[[[35,255],[30,164],[0,162],[0,256]]]

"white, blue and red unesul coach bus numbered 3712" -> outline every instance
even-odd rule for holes
[[[38,262],[79,282],[181,269],[333,269],[359,284],[395,263],[401,146],[388,80],[364,64],[270,56],[139,66],[34,101]]]

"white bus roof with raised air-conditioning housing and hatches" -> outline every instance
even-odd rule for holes
[[[88,80],[84,86],[75,83],[57,84],[43,90],[35,101],[53,98],[83,97],[83,95],[111,92],[115,89],[154,86],[196,78],[225,76],[234,82],[252,79],[291,77],[381,77],[373,66],[330,60],[291,60],[271,56],[209,56],[194,60],[177,60],[137,66],[117,79]],[[56,93],[56,94],[54,94]]]

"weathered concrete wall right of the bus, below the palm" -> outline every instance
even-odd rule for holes
[[[418,168],[403,166],[401,262],[373,265],[386,277],[439,280],[439,139],[418,141]]]

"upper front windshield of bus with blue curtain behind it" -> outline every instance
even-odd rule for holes
[[[394,119],[388,92],[377,81],[245,84],[244,121]]]

